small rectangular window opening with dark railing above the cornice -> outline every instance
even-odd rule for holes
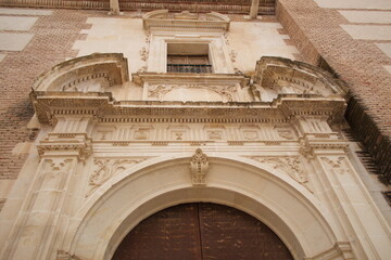
[[[212,73],[207,43],[168,43],[167,73]]]

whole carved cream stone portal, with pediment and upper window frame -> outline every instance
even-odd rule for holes
[[[188,202],[250,212],[294,259],[391,255],[389,223],[340,130],[343,87],[281,57],[237,74],[229,27],[217,13],[151,12],[146,72],[129,79],[122,54],[92,54],[37,80],[30,99],[43,127],[1,259],[111,259],[142,219]],[[214,73],[166,73],[172,42],[207,44]]]

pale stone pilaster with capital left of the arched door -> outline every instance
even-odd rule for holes
[[[91,153],[90,117],[59,118],[53,132],[37,145],[39,167],[31,180],[1,259],[49,260],[66,230],[67,205],[77,169]]]

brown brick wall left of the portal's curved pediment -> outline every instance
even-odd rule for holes
[[[39,16],[28,31],[31,41],[21,52],[7,54],[0,62],[0,180],[15,179],[24,164],[24,155],[13,155],[20,142],[34,139],[35,133],[26,125],[33,116],[28,93],[35,79],[53,65],[73,57],[74,41],[88,28],[86,11],[53,11],[53,15]],[[16,34],[17,31],[15,31]]]

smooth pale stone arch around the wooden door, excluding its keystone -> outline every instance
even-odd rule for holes
[[[143,219],[178,204],[205,202],[255,217],[281,238],[294,259],[338,250],[327,211],[289,177],[247,158],[211,157],[207,183],[195,187],[189,161],[189,156],[151,159],[112,178],[78,212],[72,242],[63,249],[81,259],[110,259]]]

